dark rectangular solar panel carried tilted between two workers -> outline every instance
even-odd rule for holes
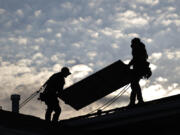
[[[130,83],[131,70],[121,60],[66,88],[60,97],[76,110]]]

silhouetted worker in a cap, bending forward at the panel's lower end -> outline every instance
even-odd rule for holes
[[[45,104],[47,105],[47,110],[45,114],[45,119],[47,121],[51,121],[51,114],[54,111],[54,115],[52,118],[53,122],[57,122],[59,119],[59,115],[61,113],[61,108],[59,106],[58,97],[60,97],[64,84],[65,78],[70,75],[69,69],[67,67],[63,67],[61,72],[53,74],[43,85],[45,87],[43,95]]]

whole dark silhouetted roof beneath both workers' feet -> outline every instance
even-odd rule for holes
[[[92,134],[118,131],[122,133],[172,133],[179,132],[180,95],[161,98],[136,105],[88,114],[59,123],[23,114],[0,110],[0,130],[29,134]]]

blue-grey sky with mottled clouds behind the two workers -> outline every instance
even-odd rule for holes
[[[11,110],[11,94],[22,102],[62,66],[72,72],[68,87],[128,62],[134,37],[145,43],[153,70],[141,81],[144,100],[179,94],[179,34],[179,0],[0,0],[0,106]],[[87,114],[119,91],[79,111],[60,101],[60,119]],[[127,105],[129,94],[107,109]],[[36,97],[20,112],[44,118],[45,108]]]

